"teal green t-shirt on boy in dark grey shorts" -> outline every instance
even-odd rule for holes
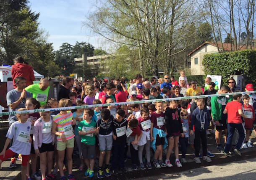
[[[96,127],[96,122],[91,121],[90,123],[87,123],[85,120],[81,121],[78,125],[78,131],[90,131]],[[81,136],[81,142],[86,145],[95,145],[95,136],[94,134],[87,134],[84,136]]]

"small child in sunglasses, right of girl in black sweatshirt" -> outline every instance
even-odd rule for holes
[[[188,112],[186,109],[180,110],[180,121],[182,124],[184,137],[180,137],[179,142],[181,146],[181,162],[186,163],[185,155],[188,149],[189,126],[188,126]]]

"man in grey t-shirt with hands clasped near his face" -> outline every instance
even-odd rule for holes
[[[16,77],[14,79],[14,83],[16,85],[16,89],[9,91],[6,95],[7,106],[9,107],[9,111],[16,111],[19,108],[25,108],[25,102],[27,97],[32,97],[29,92],[27,92],[24,88],[26,87],[26,78],[24,77]],[[15,114],[9,115],[9,126],[17,121]]]

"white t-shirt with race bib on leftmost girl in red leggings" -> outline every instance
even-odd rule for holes
[[[16,121],[10,125],[6,134],[6,137],[13,139],[13,145],[10,147],[10,150],[16,154],[30,155],[30,128],[31,122],[29,121],[24,123]]]

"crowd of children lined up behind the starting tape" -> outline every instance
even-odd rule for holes
[[[40,103],[31,97],[26,99],[26,109],[47,109],[55,107],[82,106],[85,104],[111,104],[115,97],[124,101],[138,101],[147,99],[162,99],[180,97],[182,86],[172,85],[167,81],[151,89],[145,88],[141,76],[136,76],[136,82],[130,85],[131,94],[125,85],[117,83],[105,83],[102,92],[97,92],[93,84],[84,86],[81,100],[78,100],[77,89],[72,88],[70,99],[63,98],[60,101],[49,99],[47,105],[40,107]],[[173,78],[173,77],[172,77]],[[173,78],[174,79],[174,78]],[[181,72],[180,81],[188,81],[184,71]],[[180,83],[180,82],[178,82]],[[246,86],[246,91],[253,90],[252,84]],[[152,84],[153,86],[153,84]],[[202,93],[196,82],[190,84],[185,96],[200,95]],[[127,87],[126,87],[127,88]],[[212,93],[214,84],[209,84],[206,94]],[[162,91],[161,91],[162,90]],[[76,91],[76,92],[75,92]],[[124,91],[124,93],[123,93]],[[222,86],[214,91],[218,94],[230,92],[228,86]],[[97,99],[95,99],[95,94]],[[162,95],[161,95],[162,93]],[[125,94],[123,96],[123,94]],[[126,96],[126,98],[125,98]],[[127,97],[128,96],[128,97]],[[243,104],[240,102],[243,100]],[[77,149],[80,159],[78,170],[85,171],[85,177],[94,177],[95,160],[99,160],[97,178],[101,179],[125,172],[125,159],[130,149],[131,167],[133,170],[172,167],[182,167],[186,163],[186,153],[189,144],[193,145],[196,163],[201,163],[200,147],[202,145],[202,160],[212,162],[214,157],[207,149],[207,132],[210,124],[216,124],[215,138],[217,149],[222,150],[221,133],[227,129],[225,139],[226,156],[232,156],[231,147],[235,129],[238,137],[235,141],[233,152],[241,155],[240,148],[252,147],[249,142],[251,131],[255,130],[255,94],[215,96],[211,99],[193,99],[183,101],[156,101],[152,103],[99,106],[91,109],[77,109],[76,111],[62,110],[56,112],[39,112],[32,114],[17,114],[17,121],[10,125],[6,134],[6,142],[0,153],[1,163],[21,154],[22,180],[31,177],[37,180],[53,180],[60,173],[60,179],[65,180],[65,165],[68,167],[68,180],[74,180],[72,174],[74,148]],[[209,111],[210,109],[211,111]],[[227,115],[226,115],[227,114]],[[244,129],[245,128],[245,129]],[[12,140],[12,145],[8,145]],[[164,153],[164,150],[166,153]],[[181,151],[181,160],[179,158]],[[171,153],[174,151],[175,161],[171,162]],[[151,155],[153,152],[153,155]],[[37,156],[40,159],[40,171],[37,172]],[[145,157],[145,158],[144,158]],[[53,171],[52,171],[53,169]]]

